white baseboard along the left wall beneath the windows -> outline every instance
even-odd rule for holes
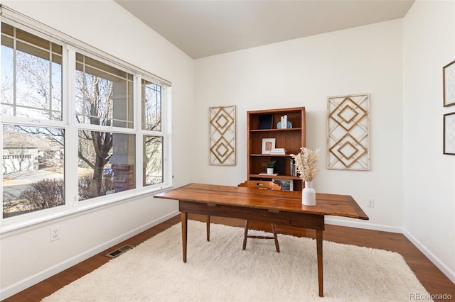
[[[118,243],[120,243],[124,240],[127,240],[128,238],[131,238],[134,235],[144,232],[144,230],[154,227],[155,225],[158,225],[159,223],[163,223],[164,221],[178,215],[178,213],[180,213],[180,212],[173,211],[172,213],[169,213],[166,216],[162,216],[161,218],[151,221],[150,223],[146,223],[146,225],[142,225],[141,227],[136,228],[135,230],[131,230],[128,233],[125,233],[123,235],[120,235],[119,237],[113,238],[112,240],[109,240],[109,241],[103,243],[102,245],[93,247],[92,249],[87,250],[80,255],[76,255],[75,257],[67,259],[64,262],[60,262],[59,264],[56,264],[53,267],[49,267],[48,269],[45,269],[43,272],[39,272],[38,274],[29,276],[28,278],[23,279],[22,281],[19,281],[16,284],[8,286],[6,289],[1,289],[0,301],[3,301],[4,299],[9,298],[9,297],[15,295],[16,293],[23,291],[24,289],[28,289],[28,287],[31,287],[31,286],[37,284],[38,282],[48,279],[50,276],[63,272],[65,269],[69,269],[70,267],[73,267],[75,264],[78,264],[78,263],[84,261],[85,259],[88,259],[92,256],[99,254],[100,252],[102,252],[104,250],[107,250],[109,247],[117,245]]]

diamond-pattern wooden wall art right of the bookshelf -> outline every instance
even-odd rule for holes
[[[369,170],[370,95],[327,99],[327,168]]]

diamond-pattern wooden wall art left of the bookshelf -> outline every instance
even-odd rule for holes
[[[209,163],[235,166],[235,106],[209,108]]]

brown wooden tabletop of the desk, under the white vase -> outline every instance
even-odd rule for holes
[[[216,184],[187,184],[156,194],[154,197],[215,205],[264,208],[271,211],[369,219],[350,195],[316,193],[316,206],[304,206],[301,204],[301,191],[274,191]]]

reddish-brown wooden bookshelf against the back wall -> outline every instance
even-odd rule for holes
[[[281,117],[287,115],[291,128],[278,129]],[[262,139],[274,138],[276,148],[287,150],[286,155],[262,154]],[[300,152],[305,147],[305,107],[269,109],[247,112],[247,179],[272,180],[289,179],[295,190],[302,189],[301,179],[291,175],[291,154]],[[275,175],[259,175],[266,172],[261,167],[263,162],[277,160]]]

